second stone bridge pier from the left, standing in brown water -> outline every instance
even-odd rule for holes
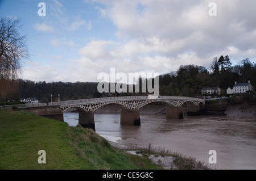
[[[120,124],[140,126],[139,110],[121,110]]]

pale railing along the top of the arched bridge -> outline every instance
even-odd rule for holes
[[[27,107],[44,107],[44,106],[65,106],[65,105],[75,105],[75,104],[89,104],[89,103],[100,103],[100,102],[110,102],[116,100],[148,100],[148,96],[119,96],[119,97],[106,97],[106,98],[92,98],[92,99],[77,99],[77,100],[64,100],[60,102],[52,103],[30,103],[30,104],[16,104],[8,106],[0,106],[0,108],[12,108],[13,106],[18,108]],[[173,100],[193,100],[204,102],[204,99],[190,98],[183,96],[158,96],[157,99],[173,99]]]

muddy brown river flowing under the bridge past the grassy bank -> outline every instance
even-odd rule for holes
[[[70,126],[78,124],[79,113],[64,113]],[[118,114],[94,114],[96,133],[109,141],[138,146],[151,144],[181,153],[215,169],[256,169],[255,118],[228,116],[185,116],[183,120],[165,115],[141,114],[141,126],[120,125]],[[210,164],[210,150],[217,163]]]

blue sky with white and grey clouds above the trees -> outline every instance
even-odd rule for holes
[[[35,82],[209,68],[221,55],[256,63],[255,10],[255,0],[0,0],[0,16],[19,18],[27,36],[20,78]]]

